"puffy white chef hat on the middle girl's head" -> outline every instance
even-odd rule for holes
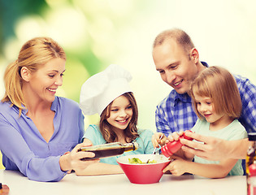
[[[115,98],[132,92],[128,82],[132,80],[130,72],[123,67],[111,64],[105,71],[91,76],[82,85],[80,91],[80,109],[85,115],[98,115]]]

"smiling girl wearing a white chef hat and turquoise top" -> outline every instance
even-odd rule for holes
[[[80,108],[85,115],[100,115],[99,125],[89,125],[84,142],[101,145],[119,141],[123,144],[136,141],[139,149],[125,152],[117,157],[102,158],[80,171],[78,176],[123,173],[116,158],[131,154],[151,154],[154,150],[150,141],[153,132],[137,129],[137,102],[128,85],[132,79],[122,67],[111,65],[104,72],[89,78],[82,86]]]

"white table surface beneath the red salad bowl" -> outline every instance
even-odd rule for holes
[[[76,195],[76,194],[171,194],[171,195],[245,195],[245,176],[206,179],[197,176],[164,174],[157,184],[131,184],[124,174],[109,176],[76,176],[69,174],[59,182],[28,180],[18,171],[0,170],[0,182],[7,184],[10,195]]]

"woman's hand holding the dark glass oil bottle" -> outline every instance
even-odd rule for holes
[[[79,152],[78,150],[81,147],[90,146],[89,143],[81,143],[76,145],[76,147],[70,152],[67,153],[59,158],[59,165],[62,171],[70,171],[77,169],[85,169],[89,164],[99,162],[98,159],[96,160],[89,160],[89,161],[81,161],[81,158],[93,158],[95,156],[92,152]]]

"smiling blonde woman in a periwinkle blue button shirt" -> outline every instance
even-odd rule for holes
[[[67,171],[85,168],[93,153],[79,153],[84,116],[76,102],[56,97],[63,85],[66,54],[47,37],[27,41],[5,72],[0,102],[0,150],[7,170],[30,180],[59,181]],[[69,152],[71,151],[71,152]],[[95,161],[94,161],[95,162]]]

